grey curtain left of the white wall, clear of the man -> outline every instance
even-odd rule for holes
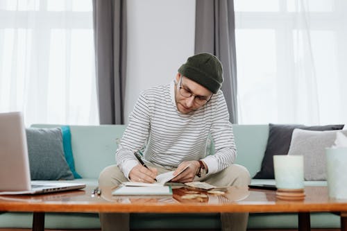
[[[93,0],[96,86],[101,124],[124,123],[126,0]]]

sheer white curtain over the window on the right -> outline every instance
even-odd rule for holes
[[[347,122],[347,1],[235,0],[239,123]]]

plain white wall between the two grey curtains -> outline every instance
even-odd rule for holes
[[[139,93],[169,83],[194,54],[195,0],[128,0],[125,122]]]

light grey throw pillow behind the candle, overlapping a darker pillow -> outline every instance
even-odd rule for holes
[[[326,180],[325,148],[334,144],[337,132],[347,135],[347,130],[294,129],[288,155],[303,155],[305,180]]]

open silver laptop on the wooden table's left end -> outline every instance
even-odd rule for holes
[[[0,195],[44,194],[84,187],[82,183],[31,180],[22,113],[0,113]]]

